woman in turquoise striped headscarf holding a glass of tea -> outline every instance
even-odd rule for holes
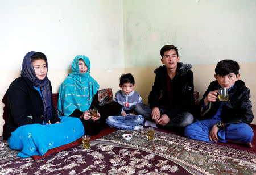
[[[121,106],[110,103],[100,106],[97,91],[100,85],[90,76],[90,60],[85,55],[78,55],[72,62],[72,73],[60,86],[57,109],[60,115],[80,118],[86,135],[96,135],[108,126],[106,118],[119,114]],[[90,109],[97,108],[97,117],[91,117]]]

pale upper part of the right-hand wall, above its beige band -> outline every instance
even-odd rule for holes
[[[256,1],[124,0],[125,68],[160,65],[176,45],[183,62],[256,62]]]

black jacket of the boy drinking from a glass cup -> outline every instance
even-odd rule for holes
[[[204,113],[208,108],[204,106],[204,99],[207,97],[210,91],[218,90],[220,85],[218,81],[210,83],[207,91],[205,91],[203,98],[199,102],[201,113]],[[250,124],[253,121],[253,111],[251,110],[250,89],[245,86],[245,82],[238,80],[229,91],[228,101],[224,101],[224,105],[221,111],[221,121],[228,126],[229,124],[247,123]],[[211,102],[210,110],[199,119],[212,118],[217,113],[220,107],[221,101],[217,99],[216,102]]]

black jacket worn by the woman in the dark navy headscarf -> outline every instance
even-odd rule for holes
[[[52,86],[49,81],[51,94]],[[7,120],[7,136],[11,136],[11,132],[15,131],[16,128],[25,124],[43,123],[44,118],[44,106],[43,100],[39,92],[33,87],[32,82],[28,78],[19,77],[16,78],[9,89],[7,89],[8,97],[8,110],[9,116]],[[52,118],[51,123],[60,121],[53,106],[52,101]],[[32,116],[28,117],[28,116]]]

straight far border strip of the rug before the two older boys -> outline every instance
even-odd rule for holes
[[[166,135],[166,136],[171,136],[172,138],[188,141],[188,142],[191,142],[191,143],[194,143],[194,144],[204,145],[205,147],[208,147],[208,148],[215,148],[215,149],[219,149],[221,151],[224,150],[224,151],[231,152],[231,153],[236,153],[236,154],[239,154],[239,155],[246,155],[246,156],[250,156],[250,157],[256,157],[255,153],[243,151],[241,149],[225,147],[225,146],[222,146],[222,145],[217,145],[217,144],[209,143],[209,142],[206,142],[206,141],[189,139],[189,138],[185,138],[183,136],[178,136],[178,135],[175,135],[175,134],[166,133],[166,132],[162,132],[162,131],[156,131],[155,130],[155,133]]]

